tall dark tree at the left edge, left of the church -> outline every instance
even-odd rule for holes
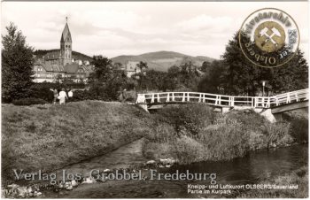
[[[26,43],[26,37],[11,23],[2,36],[2,100],[26,98],[31,94],[33,84],[33,48]]]

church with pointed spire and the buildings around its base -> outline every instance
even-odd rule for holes
[[[60,50],[48,52],[43,58],[35,58],[33,67],[35,82],[53,82],[61,78],[75,82],[86,81],[93,66],[89,60],[75,60],[72,56],[72,37],[66,26],[60,38]]]

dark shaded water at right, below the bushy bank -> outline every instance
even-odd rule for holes
[[[307,165],[307,145],[294,145],[274,150],[259,150],[248,153],[244,158],[229,161],[198,162],[190,165],[174,165],[165,173],[216,173],[217,181],[224,183],[255,183],[272,176],[291,173]]]

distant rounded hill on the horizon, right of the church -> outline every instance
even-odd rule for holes
[[[182,60],[190,59],[195,65],[201,66],[203,62],[209,61],[212,62],[214,58],[209,57],[191,57],[182,53],[174,52],[174,51],[157,51],[157,52],[150,52],[144,53],[138,56],[119,56],[112,58],[114,63],[121,63],[123,65],[129,61],[143,61],[147,62],[149,69],[154,69],[158,71],[167,72],[168,68],[172,65],[180,65]]]

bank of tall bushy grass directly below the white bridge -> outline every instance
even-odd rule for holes
[[[155,134],[147,135],[143,145],[144,156],[173,157],[181,164],[243,157],[249,150],[286,146],[298,138],[291,123],[272,124],[250,110],[214,113],[205,104],[165,107],[155,121]]]

